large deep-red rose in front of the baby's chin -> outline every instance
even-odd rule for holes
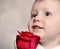
[[[37,35],[34,35],[30,32],[19,32],[19,35],[16,36],[16,46],[17,49],[36,49],[40,37]]]

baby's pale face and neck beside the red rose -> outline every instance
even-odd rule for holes
[[[40,36],[40,45],[45,49],[60,45],[60,1],[36,0],[28,29]]]

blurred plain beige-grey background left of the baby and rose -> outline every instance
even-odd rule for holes
[[[28,30],[27,24],[34,0],[0,0],[0,49],[15,49],[17,30]]]

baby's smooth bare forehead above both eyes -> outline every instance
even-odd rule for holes
[[[32,9],[41,9],[41,8],[57,9],[59,7],[60,6],[59,6],[57,1],[53,1],[53,0],[36,0]]]

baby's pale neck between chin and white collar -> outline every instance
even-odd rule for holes
[[[46,41],[41,43],[41,45],[45,48],[45,49],[51,49],[53,47],[56,47],[58,45],[60,45],[60,37],[57,37],[56,39],[50,40],[50,41]]]

